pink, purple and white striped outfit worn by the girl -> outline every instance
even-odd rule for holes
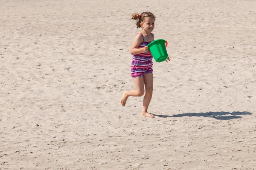
[[[137,33],[141,34],[141,33]],[[151,34],[151,33],[150,33]],[[138,48],[143,48],[147,46],[150,42],[145,42],[143,34],[143,42],[140,43]],[[151,34],[153,37],[153,35]],[[131,77],[142,77],[144,74],[152,73],[153,72],[153,62],[152,62],[152,55],[148,52],[143,52],[140,54],[132,55],[132,62],[131,62]]]

